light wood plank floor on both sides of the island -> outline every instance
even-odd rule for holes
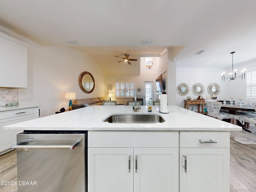
[[[0,181],[17,181],[16,150],[0,156]],[[0,192],[17,192],[17,185]],[[230,139],[230,192],[256,192],[256,144]]]

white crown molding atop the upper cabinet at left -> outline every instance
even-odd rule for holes
[[[29,40],[28,38],[25,38],[3,26],[0,26],[0,37],[11,40],[13,42],[16,42],[20,45],[27,46],[27,47],[40,47],[40,44],[37,44],[36,42]]]

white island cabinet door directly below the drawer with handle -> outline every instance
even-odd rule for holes
[[[180,192],[229,192],[229,157],[229,148],[181,148]]]

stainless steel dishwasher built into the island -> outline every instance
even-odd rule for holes
[[[18,192],[87,192],[86,131],[17,134]]]

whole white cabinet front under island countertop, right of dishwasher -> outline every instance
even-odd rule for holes
[[[89,192],[228,192],[229,132],[88,132]]]

